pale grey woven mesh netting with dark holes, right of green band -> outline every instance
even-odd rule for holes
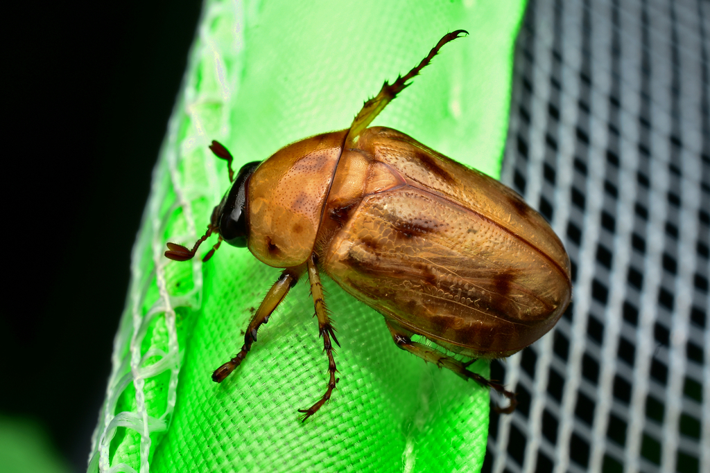
[[[491,367],[520,405],[484,470],[710,472],[709,81],[708,1],[530,1],[502,180],[564,238],[574,305]]]

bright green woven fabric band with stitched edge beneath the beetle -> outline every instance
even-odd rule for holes
[[[297,413],[327,386],[305,282],[260,330],[246,362],[212,382],[280,270],[228,245],[204,265],[171,262],[163,251],[168,240],[192,245],[228,187],[210,140],[224,143],[239,169],[300,138],[346,128],[383,80],[407,72],[456,29],[471,34],[446,45],[373,125],[497,177],[524,4],[206,1],[133,250],[89,471],[480,469],[488,392],[399,350],[382,316],[327,277],[342,347],[340,382],[320,412],[306,423]],[[474,369],[488,375],[486,363]]]

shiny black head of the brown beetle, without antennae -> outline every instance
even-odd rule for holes
[[[222,240],[229,245],[246,246],[246,237],[249,235],[245,211],[246,185],[249,183],[249,176],[258,165],[258,161],[253,161],[242,166],[234,183],[231,184],[229,193],[224,196],[222,215],[219,216],[219,235],[222,235]]]

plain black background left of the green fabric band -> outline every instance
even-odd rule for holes
[[[11,285],[0,415],[38,421],[85,471],[131,247],[201,2],[4,9]]]

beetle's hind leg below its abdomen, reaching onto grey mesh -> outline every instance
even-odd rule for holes
[[[434,363],[439,368],[451,369],[452,372],[458,374],[464,379],[473,379],[478,384],[481,384],[481,386],[495,389],[500,394],[503,394],[503,396],[506,396],[510,400],[510,406],[506,408],[494,407],[493,409],[496,412],[509,414],[515,411],[515,406],[518,405],[518,401],[515,400],[515,394],[510,391],[506,391],[501,384],[493,382],[490,379],[486,379],[478,373],[469,371],[468,367],[473,361],[464,363],[456,358],[444,355],[444,353],[434,347],[424,345],[423,343],[413,342],[411,338],[412,332],[401,328],[399,325],[391,321],[386,322],[387,328],[390,329],[390,333],[392,334],[392,339],[402,350],[407,350],[408,352],[413,353],[413,355],[417,355],[417,357],[422,358],[422,360]]]

